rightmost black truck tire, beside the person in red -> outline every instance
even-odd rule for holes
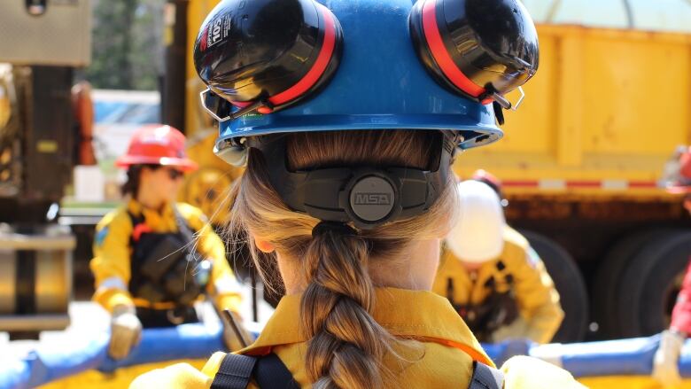
[[[676,231],[649,242],[633,257],[619,283],[619,329],[624,337],[655,334],[669,326],[691,254],[691,231]]]

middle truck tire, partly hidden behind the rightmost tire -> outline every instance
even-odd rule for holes
[[[620,338],[618,285],[627,265],[633,261],[633,256],[650,242],[666,237],[671,229],[641,230],[628,235],[612,246],[605,256],[592,285],[593,318],[599,325],[599,335],[602,338]]]

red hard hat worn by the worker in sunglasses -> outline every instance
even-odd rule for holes
[[[152,124],[136,130],[129,141],[128,153],[115,161],[118,167],[163,165],[183,171],[197,169],[185,153],[185,136],[178,129]]]

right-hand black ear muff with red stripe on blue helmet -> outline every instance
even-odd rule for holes
[[[538,69],[535,26],[517,0],[419,0],[410,11],[415,51],[455,93],[509,108],[503,97]]]

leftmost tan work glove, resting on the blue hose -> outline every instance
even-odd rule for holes
[[[142,322],[136,317],[135,307],[119,305],[113,308],[111,342],[108,354],[120,360],[128,356],[132,347],[142,338]]]

